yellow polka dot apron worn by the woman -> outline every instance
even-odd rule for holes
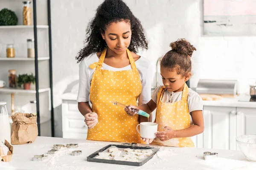
[[[99,62],[89,67],[95,69],[90,86],[90,101],[93,112],[98,114],[98,123],[88,129],[87,139],[113,142],[142,143],[136,130],[139,116],[129,116],[123,108],[113,105],[118,101],[125,105],[137,105],[142,91],[140,74],[137,71],[131,52],[127,49],[132,70],[103,70],[107,48],[102,51]]]

